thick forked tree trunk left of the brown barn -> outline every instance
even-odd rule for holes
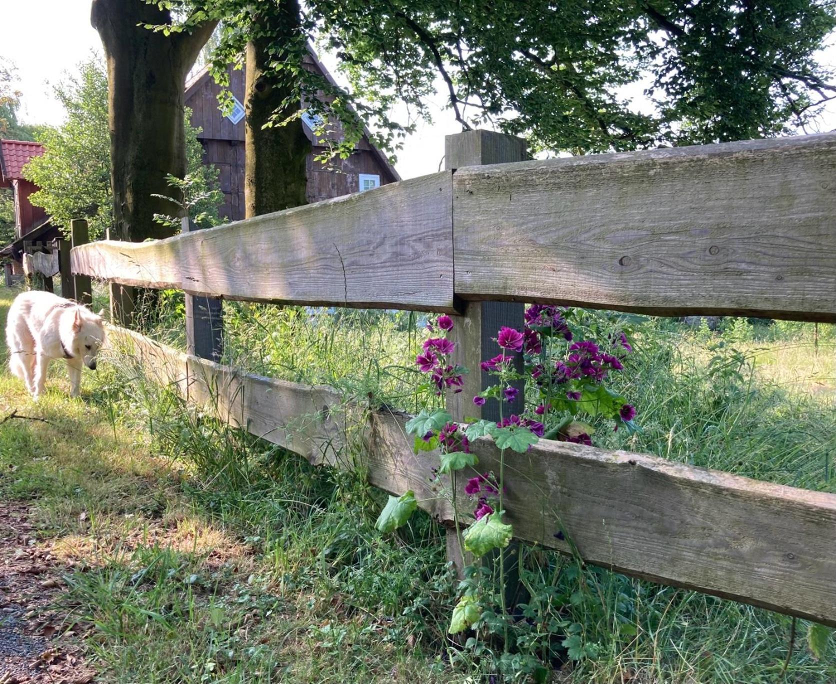
[[[183,213],[172,202],[151,196],[177,197],[166,174],[186,176],[186,74],[216,23],[168,36],[141,26],[170,20],[168,12],[144,0],[93,0],[90,22],[107,59],[115,209],[110,237],[115,239],[169,237],[171,228],[155,223],[154,214]]]

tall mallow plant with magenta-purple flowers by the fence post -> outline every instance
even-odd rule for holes
[[[533,304],[525,312],[522,330],[502,327],[496,342],[500,353],[482,360],[481,368],[494,380],[486,390],[472,397],[475,406],[496,402],[498,420],[453,421],[442,407],[426,406],[406,424],[406,431],[415,439],[415,452],[437,452],[439,462],[428,476],[443,486],[441,476],[449,476],[452,509],[456,533],[461,548],[476,559],[492,551],[504,549],[511,542],[513,528],[505,520],[504,498],[513,482],[506,477],[507,452],[527,452],[540,439],[556,439],[593,446],[594,427],[609,422],[614,430],[638,430],[635,406],[607,385],[609,377],[623,370],[622,360],[632,351],[623,332],[610,334],[600,343],[592,339],[576,339],[567,310],[555,306]],[[415,364],[428,376],[440,403],[448,393],[462,391],[462,375],[466,368],[452,361],[456,344],[448,334],[454,320],[441,315],[427,325],[429,337]],[[523,373],[519,373],[518,357],[523,358]],[[508,411],[517,398],[518,380],[525,381],[524,410]],[[472,442],[490,437],[499,450],[498,472],[482,472]],[[472,505],[472,522],[462,531],[459,519],[461,502],[456,501],[459,484],[464,478],[463,492]],[[377,528],[391,532],[405,524],[418,507],[415,493],[406,492],[390,497]],[[468,521],[470,522],[470,521]],[[505,584],[505,558],[499,553],[499,579]],[[479,574],[466,570],[466,576]],[[461,582],[461,597],[451,615],[449,631],[457,634],[480,628],[492,620],[490,630],[505,632],[503,643],[508,647],[507,627],[511,624],[505,592],[498,592],[501,614],[495,615],[491,605],[484,605],[479,583]],[[498,623],[496,618],[498,617]]]

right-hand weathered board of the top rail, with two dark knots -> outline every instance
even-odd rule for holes
[[[459,168],[456,294],[836,320],[836,135]]]

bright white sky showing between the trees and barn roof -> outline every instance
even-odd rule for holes
[[[49,84],[59,81],[65,70],[74,71],[91,50],[101,52],[99,34],[90,26],[89,16],[90,0],[0,0],[0,55],[12,59],[18,67],[19,89],[23,91],[18,118],[24,123],[61,122],[64,111],[54,100]],[[22,25],[26,30],[18,28]],[[836,66],[836,38],[832,36],[829,43],[822,62]],[[334,67],[334,60],[327,55],[324,62],[329,69]],[[633,97],[641,99],[640,87],[635,88]],[[818,127],[821,131],[836,130],[836,100],[829,104]],[[435,122],[419,125],[398,153],[395,166],[402,177],[437,171],[444,156],[444,136],[461,130],[443,105],[440,95],[431,103]]]

